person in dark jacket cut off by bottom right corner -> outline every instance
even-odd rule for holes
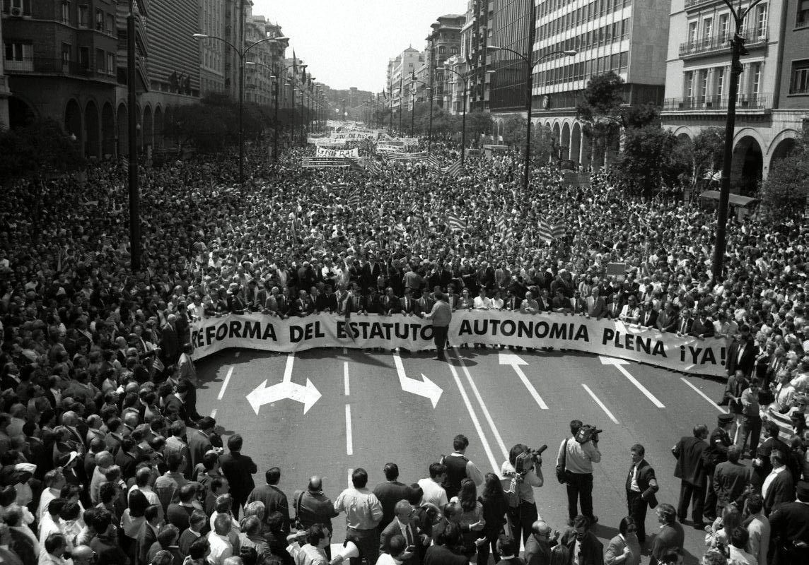
[[[781,504],[769,515],[771,543],[780,565],[809,563],[809,482],[798,482],[798,500]]]

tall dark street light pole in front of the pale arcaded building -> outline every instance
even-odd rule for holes
[[[725,148],[722,155],[722,179],[719,182],[719,211],[716,222],[716,238],[714,239],[714,261],[711,266],[712,282],[724,279],[725,247],[727,234],[727,209],[731,200],[731,166],[733,164],[733,134],[736,128],[736,99],[739,97],[739,75],[742,74],[743,65],[739,61],[742,55],[747,55],[744,48],[744,19],[752,9],[761,2],[753,0],[747,8],[733,7],[732,0],[722,0],[731,9],[736,31],[731,39],[731,84],[727,93],[727,118],[725,121]]]

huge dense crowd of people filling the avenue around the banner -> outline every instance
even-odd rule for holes
[[[455,158],[447,146],[432,150],[447,164]],[[277,163],[253,156],[244,187],[231,155],[142,167],[140,272],[129,270],[120,167],[4,188],[2,562],[320,565],[332,559],[331,520],[345,512],[360,555],[351,559],[368,565],[519,563],[521,539],[529,565],[636,565],[656,490],[654,472],[637,473],[642,446],[633,448],[628,515],[604,556],[591,531],[592,469],[577,459],[597,462],[597,449],[582,447],[573,425],[557,457],[570,524],[554,542],[531,511],[541,473],[515,469],[524,446],[500,475],[469,466],[461,441],[458,461],[430,465],[430,479],[414,485],[396,484],[393,466],[387,494],[374,494],[355,470],[354,489],[333,503],[317,477],[289,501],[277,469],[253,489],[257,469],[241,438],[222,441],[215,421],[197,414],[188,343],[197,319],[426,315],[436,298],[450,310],[553,310],[731,340],[719,399],[730,421],[707,442],[695,428],[698,441],[677,449],[678,468],[690,461],[700,470],[682,471],[678,508],[656,507],[673,539],[663,544],[658,533],[647,549],[660,563],[681,559],[677,519],[685,521],[691,500],[693,525],[717,520],[705,565],[807,562],[806,224],[731,218],[726,273],[714,283],[714,214],[628,196],[606,173],[570,186],[537,167],[526,193],[517,154],[468,158],[458,176],[426,162],[380,160],[379,175],[305,169],[304,154],[290,150]],[[448,215],[465,227],[452,229]],[[565,226],[565,235],[548,241],[540,221]],[[610,263],[625,273],[609,276]],[[792,427],[786,443],[776,416]],[[700,445],[712,456],[696,457]],[[739,470],[749,469],[739,463],[745,449],[748,474]],[[370,513],[358,513],[360,503]],[[770,549],[761,554],[741,529],[765,521]]]

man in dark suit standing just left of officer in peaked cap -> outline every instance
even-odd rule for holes
[[[694,529],[702,529],[702,504],[705,502],[705,469],[702,466],[702,452],[708,447],[708,426],[694,426],[693,436],[683,436],[671,453],[677,458],[674,476],[680,479],[680,502],[677,504],[677,517],[684,522],[688,516],[688,504],[693,504],[691,517]]]

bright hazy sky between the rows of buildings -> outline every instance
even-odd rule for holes
[[[468,0],[253,0],[253,15],[282,26],[287,57],[309,65],[317,82],[381,91],[388,59],[426,44],[439,15],[464,14]]]

